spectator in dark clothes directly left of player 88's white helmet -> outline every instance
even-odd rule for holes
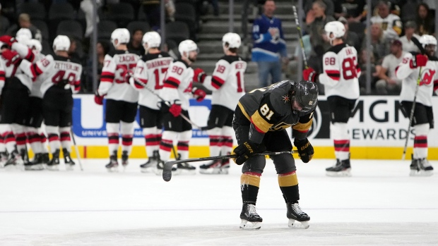
[[[324,31],[326,23],[334,21],[333,16],[326,16],[326,4],[317,0],[312,4],[312,9],[307,13],[307,33],[310,35],[312,53],[309,56],[309,67],[314,68],[316,73],[322,72],[322,56],[331,46]]]

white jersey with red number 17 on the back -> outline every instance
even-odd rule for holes
[[[139,105],[146,106],[149,109],[160,109],[157,105],[160,100],[155,94],[160,94],[160,90],[164,85],[167,69],[172,61],[172,57],[163,51],[158,54],[143,55],[143,57],[137,61],[134,78],[129,80],[129,82],[139,92]],[[155,94],[145,89],[143,87],[145,84],[146,87]]]

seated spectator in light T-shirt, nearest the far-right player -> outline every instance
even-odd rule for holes
[[[400,40],[394,39],[391,42],[391,54],[385,56],[379,69],[379,78],[376,82],[377,94],[400,94],[401,80],[396,78],[396,67],[401,63],[406,51],[403,51],[403,44]]]

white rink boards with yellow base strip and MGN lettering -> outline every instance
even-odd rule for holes
[[[107,134],[105,130],[105,104],[94,103],[93,95],[74,95],[73,133],[79,152],[84,158],[107,158]],[[438,115],[438,97],[432,98],[434,116]],[[211,97],[203,102],[190,101],[190,117],[197,125],[205,126],[211,109]],[[403,116],[398,97],[361,97],[348,123],[353,159],[400,159],[406,141],[408,118]],[[429,159],[438,159],[438,130],[429,133]],[[315,158],[334,158],[333,142],[330,140],[329,107],[326,97],[319,97],[314,113],[314,123],[309,140],[315,149]],[[145,158],[145,140],[135,123],[134,143],[131,158]],[[175,143],[176,144],[176,143]],[[236,141],[235,141],[236,144]],[[413,146],[413,130],[409,136],[407,158]],[[190,142],[190,157],[208,156],[208,135],[206,131],[193,130]]]

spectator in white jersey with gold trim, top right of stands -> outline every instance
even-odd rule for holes
[[[400,17],[389,12],[389,3],[386,1],[379,1],[377,5],[378,15],[371,18],[371,23],[379,23],[381,30],[384,32],[386,40],[398,38],[401,35],[402,23]]]

